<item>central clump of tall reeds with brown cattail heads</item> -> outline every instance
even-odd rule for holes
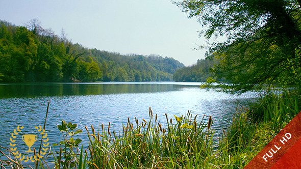
[[[149,108],[149,119],[138,119],[123,126],[121,133],[101,125],[88,130],[89,168],[208,168],[213,154],[213,135],[204,118],[199,122],[188,111],[186,116],[169,119],[167,126],[157,122]]]

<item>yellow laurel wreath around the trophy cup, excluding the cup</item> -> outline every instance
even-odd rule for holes
[[[14,139],[17,138],[17,136],[14,136],[14,135],[18,135],[19,133],[17,133],[17,131],[18,131],[18,132],[21,132],[20,129],[23,129],[23,128],[24,128],[23,126],[21,126],[21,127],[18,126],[18,127],[17,127],[17,130],[14,129],[14,132],[12,132],[11,137],[10,137],[11,143],[9,143],[11,147],[15,147],[15,146],[16,146],[16,144],[14,144],[14,143],[16,142],[16,140],[14,140]],[[26,158],[25,158],[25,155],[22,156],[21,153],[19,154],[19,151],[17,151],[17,148],[16,148],[16,147],[15,147],[15,148],[11,148],[11,151],[12,151],[13,155],[15,155],[16,158],[19,158],[20,161],[22,161],[22,160],[24,160],[24,159],[26,159],[26,160],[24,160],[24,162],[27,162],[29,159],[30,159],[32,162],[35,162],[35,160],[38,161],[39,158],[43,158],[42,155],[45,155],[45,154],[46,154],[46,151],[48,150],[47,146],[49,145],[49,143],[47,143],[47,142],[48,142],[48,139],[49,139],[49,138],[47,137],[47,133],[45,132],[44,129],[42,130],[42,127],[41,127],[41,126],[39,126],[39,127],[36,126],[35,128],[36,128],[36,129],[39,129],[38,132],[42,131],[42,132],[40,133],[40,134],[42,135],[42,138],[46,138],[46,140],[43,140],[43,142],[44,142],[45,144],[43,144],[42,151],[41,151],[41,155],[38,153],[37,155],[30,156],[30,157],[26,156]],[[43,136],[43,134],[45,134],[45,135]],[[46,144],[46,143],[47,143],[47,144]],[[44,148],[44,147],[45,147],[45,148]],[[43,152],[43,151],[44,151],[44,152]]]

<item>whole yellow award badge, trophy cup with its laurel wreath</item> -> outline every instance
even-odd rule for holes
[[[19,158],[20,161],[24,160],[24,162],[27,162],[29,159],[34,162],[35,160],[39,160],[39,158],[43,158],[42,155],[45,155],[46,154],[46,151],[49,149],[47,148],[49,143],[48,142],[48,137],[47,137],[47,133],[45,132],[44,129],[42,129],[41,126],[39,127],[35,127],[36,129],[38,129],[37,132],[40,132],[40,135],[41,135],[41,140],[44,142],[43,146],[41,147],[41,151],[40,153],[36,153],[35,151],[33,151],[31,149],[31,147],[35,144],[35,142],[37,141],[38,139],[38,135],[34,135],[34,134],[23,134],[22,135],[22,140],[23,142],[28,146],[28,150],[25,151],[26,153],[33,153],[33,155],[31,155],[29,157],[29,155],[25,156],[23,155],[22,156],[22,153],[19,153],[19,151],[17,150],[17,145],[15,144],[16,142],[16,138],[17,138],[17,135],[19,135],[18,132],[21,132],[21,129],[23,129],[24,127],[23,126],[18,126],[17,129],[14,129],[14,132],[12,132],[11,134],[11,137],[10,137],[10,146],[11,146],[11,151],[13,153],[13,155],[15,155],[16,158]],[[44,140],[43,140],[44,139]]]

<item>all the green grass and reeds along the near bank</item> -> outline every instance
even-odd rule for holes
[[[66,137],[53,161],[56,168],[243,168],[300,111],[299,100],[299,95],[286,91],[265,93],[249,108],[238,105],[231,126],[222,130],[218,141],[213,140],[214,119],[193,117],[190,111],[181,117],[165,115],[164,126],[149,108],[149,119],[128,119],[121,131],[112,130],[110,123],[96,131],[86,127],[87,150],[79,149],[78,139],[67,139],[69,132],[77,133],[71,131],[76,124],[62,122],[59,129]],[[0,167],[24,167],[8,158]],[[49,167],[44,162],[36,168]]]

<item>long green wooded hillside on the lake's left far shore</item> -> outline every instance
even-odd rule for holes
[[[0,81],[171,81],[184,65],[159,55],[121,55],[73,44],[37,20],[16,26],[0,20]]]

